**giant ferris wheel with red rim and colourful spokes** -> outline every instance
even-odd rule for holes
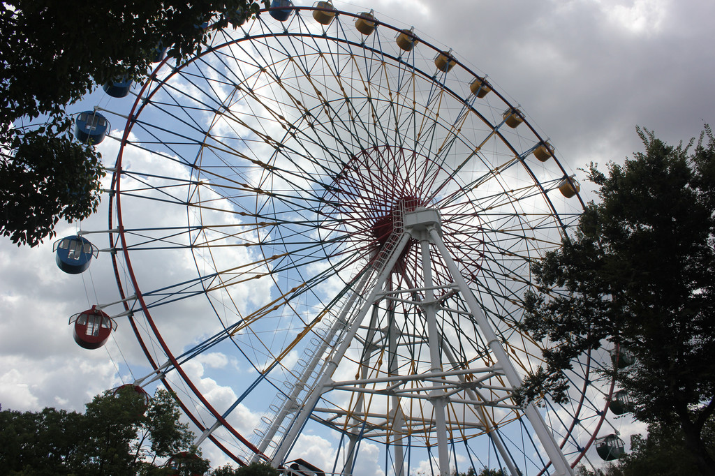
[[[175,392],[199,443],[314,475],[558,475],[586,455],[607,353],[573,362],[568,402],[511,399],[549,345],[516,326],[530,265],[576,224],[578,182],[456,53],[275,1],[160,64],[127,118],[124,309],[102,319],[126,316],[137,385]]]

